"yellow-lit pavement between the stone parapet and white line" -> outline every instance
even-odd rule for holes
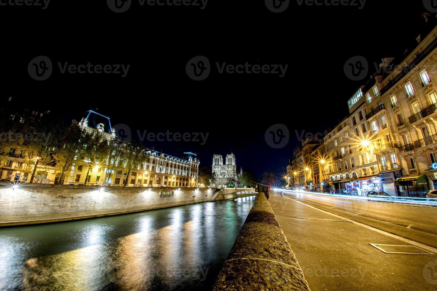
[[[423,251],[402,237],[317,209],[310,202],[324,200],[298,196],[271,193],[269,202],[312,291],[437,289],[437,249],[426,246],[434,253],[405,254]],[[323,203],[339,203],[325,199]],[[384,253],[371,243],[406,247],[381,246],[404,252]]]

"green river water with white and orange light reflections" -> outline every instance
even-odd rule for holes
[[[208,289],[254,200],[0,229],[0,290]]]

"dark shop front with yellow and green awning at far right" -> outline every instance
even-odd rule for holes
[[[425,175],[402,177],[395,181],[395,185],[401,197],[425,197],[429,191]]]

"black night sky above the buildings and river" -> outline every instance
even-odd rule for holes
[[[95,2],[95,3],[90,3]],[[50,109],[66,122],[98,109],[111,123],[159,133],[209,133],[200,142],[151,142],[147,147],[181,156],[198,154],[211,167],[212,155],[232,150],[238,167],[261,176],[281,174],[296,135],[323,132],[347,115],[347,99],[363,85],[343,71],[347,59],[369,62],[399,55],[423,22],[422,1],[367,0],[351,6],[299,6],[282,13],[264,1],[209,0],[192,6],[140,6],[114,13],[106,1],[53,1],[47,9],[0,6],[2,100]],[[358,2],[357,2],[358,3]],[[28,73],[35,57],[50,58],[49,79]],[[203,81],[187,76],[191,58],[203,55],[211,73]],[[61,74],[58,62],[130,65],[127,75]],[[219,74],[221,65],[288,65],[278,74]],[[4,101],[6,102],[6,101]],[[284,123],[288,144],[270,147],[267,128]]]

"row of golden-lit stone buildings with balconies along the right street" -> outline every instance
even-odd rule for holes
[[[348,195],[420,197],[437,189],[437,27],[403,58],[384,58],[347,101],[349,114],[316,147],[296,149],[295,186]],[[310,153],[311,152],[311,153]],[[312,162],[311,162],[312,161]],[[306,170],[306,171],[305,171]],[[290,172],[290,173],[289,173]],[[310,173],[314,173],[310,175]]]

